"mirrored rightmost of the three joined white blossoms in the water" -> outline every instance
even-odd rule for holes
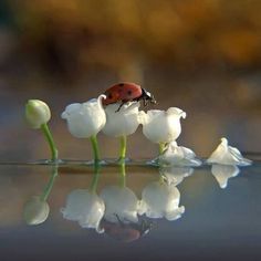
[[[185,212],[185,207],[179,207],[180,194],[174,185],[150,182],[143,189],[142,197],[139,213],[148,218],[176,220]]]

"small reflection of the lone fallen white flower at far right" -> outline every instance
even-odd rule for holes
[[[238,176],[239,171],[240,171],[239,168],[233,165],[229,166],[229,165],[215,164],[211,167],[211,173],[219,182],[220,188],[226,188],[229,178]]]

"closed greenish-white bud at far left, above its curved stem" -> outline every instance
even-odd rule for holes
[[[48,104],[40,100],[29,100],[25,105],[25,118],[32,128],[40,128],[51,118]]]

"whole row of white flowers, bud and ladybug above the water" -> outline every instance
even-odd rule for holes
[[[164,166],[200,166],[201,160],[186,147],[178,146],[177,138],[181,133],[180,118],[186,113],[177,107],[167,111],[139,111],[140,102],[155,104],[154,96],[137,84],[115,84],[105,94],[85,103],[73,103],[65,107],[61,117],[66,121],[69,132],[76,138],[90,138],[95,163],[100,163],[100,152],[96,135],[102,130],[109,137],[121,139],[119,163],[126,158],[127,136],[143,126],[144,136],[158,144],[159,157],[154,160]],[[39,100],[30,100],[25,107],[25,116],[32,128],[41,128],[50,144],[52,160],[58,160],[58,149],[54,145],[48,122],[51,118],[49,106]],[[228,146],[228,140],[221,138],[221,144],[211,154],[208,164],[247,166],[251,160],[242,157],[240,152]]]

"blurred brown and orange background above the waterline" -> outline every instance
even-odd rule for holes
[[[24,104],[45,101],[61,158],[90,159],[88,140],[71,137],[60,115],[109,85],[140,84],[157,108],[187,112],[178,143],[201,157],[226,136],[243,152],[261,152],[260,0],[1,0],[0,157],[49,157]],[[103,157],[118,140],[98,135]],[[128,156],[157,146],[129,137]]]

